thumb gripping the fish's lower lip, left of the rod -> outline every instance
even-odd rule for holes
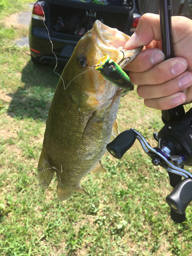
[[[161,40],[161,27],[159,15],[145,13],[141,16],[135,33],[125,44],[126,50],[132,50],[139,46],[147,46],[152,40]]]

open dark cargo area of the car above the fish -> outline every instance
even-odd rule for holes
[[[133,10],[132,1],[124,6],[96,5],[69,0],[49,0],[49,28],[57,36],[63,34],[81,37],[89,31],[96,19],[105,25],[126,33],[127,19]],[[120,13],[120,16],[119,16]]]

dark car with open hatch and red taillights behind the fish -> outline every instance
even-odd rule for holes
[[[55,64],[55,54],[58,63],[65,65],[78,40],[92,28],[96,19],[125,34],[132,34],[141,17],[139,0],[108,0],[104,5],[99,2],[103,0],[81,1],[45,0],[34,4],[29,31],[34,63]]]

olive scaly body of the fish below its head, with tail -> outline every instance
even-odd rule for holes
[[[73,190],[86,194],[80,180],[98,167],[110,142],[119,102],[117,97],[113,104],[109,102],[103,109],[84,114],[78,111],[66,91],[56,89],[38,163],[41,187],[47,188],[56,173],[61,200],[67,199]]]

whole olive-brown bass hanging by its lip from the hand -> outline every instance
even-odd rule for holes
[[[96,20],[79,40],[62,72],[65,88],[59,79],[49,109],[37,177],[46,189],[56,174],[60,200],[67,200],[73,191],[87,194],[80,185],[86,174],[106,173],[100,159],[111,135],[119,134],[116,117],[124,89],[93,67],[105,55],[116,63],[123,55],[133,59],[142,47],[126,51],[124,45],[129,38]]]

